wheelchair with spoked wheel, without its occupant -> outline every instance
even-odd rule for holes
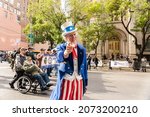
[[[37,93],[38,86],[39,82],[34,79],[31,74],[26,72],[24,72],[23,76],[21,76],[17,81],[18,91],[22,94],[26,94],[29,91]]]

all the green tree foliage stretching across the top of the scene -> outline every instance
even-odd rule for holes
[[[150,28],[150,4],[147,0],[68,0],[67,5],[66,16],[60,8],[60,0],[30,0],[27,15],[32,25],[28,24],[24,32],[32,32],[34,42],[49,41],[51,44],[58,44],[63,41],[60,27],[67,19],[73,21],[78,28],[87,48],[96,50],[100,40],[115,35],[114,20],[122,21],[127,32],[135,39],[136,35],[128,27],[133,16],[135,26],[132,31],[144,31],[142,33],[147,34]],[[130,20],[125,23],[127,19]]]

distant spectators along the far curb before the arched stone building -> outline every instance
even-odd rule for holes
[[[138,60],[137,58],[130,59],[129,56],[123,56],[122,54],[111,54],[110,57],[107,57],[105,54],[102,56],[102,60],[99,60],[97,56],[94,55],[88,55],[87,57],[87,69],[91,70],[91,67],[93,66],[94,69],[97,69],[99,67],[99,62],[105,61],[105,64],[107,64],[108,69],[112,70],[111,61],[127,61],[129,63],[129,67],[133,69],[133,71],[142,71],[146,72],[146,68],[148,65],[148,61],[146,57],[141,58],[141,60]],[[149,63],[150,65],[150,63]],[[101,65],[104,66],[104,65]]]

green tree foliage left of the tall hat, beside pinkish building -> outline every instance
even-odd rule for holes
[[[66,18],[60,9],[59,1],[30,0],[27,15],[30,23],[24,32],[33,33],[35,43],[49,41],[53,46],[63,41],[60,27]]]

